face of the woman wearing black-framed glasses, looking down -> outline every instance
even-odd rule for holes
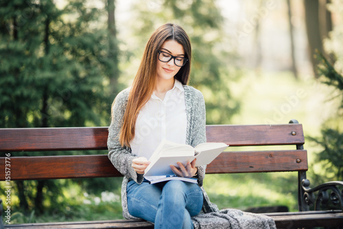
[[[172,56],[185,57],[185,51],[183,46],[174,40],[165,41],[159,51],[171,54]],[[160,54],[163,56],[163,53]],[[159,80],[174,80],[174,76],[178,73],[181,67],[178,67],[174,63],[174,58],[171,58],[168,62],[159,61],[157,58],[156,77]]]

